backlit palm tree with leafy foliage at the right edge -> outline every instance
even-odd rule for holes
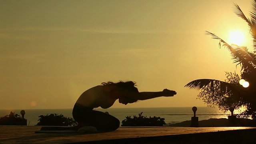
[[[250,52],[245,46],[230,45],[214,33],[206,31],[206,35],[220,40],[219,47],[227,48],[230,51],[234,63],[241,66],[241,78],[248,81],[250,86],[248,88],[242,87],[239,84],[238,76],[233,82],[230,80],[224,82],[214,79],[198,79],[189,82],[185,87],[201,90],[201,95],[198,96],[204,102],[217,105],[222,110],[228,110],[228,107],[245,106],[247,109],[242,114],[256,119],[256,0],[252,2],[250,18],[244,15],[237,4],[234,4],[234,12],[249,26],[250,35],[253,38],[253,52]]]

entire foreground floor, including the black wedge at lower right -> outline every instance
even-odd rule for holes
[[[99,134],[38,134],[41,126],[0,126],[2,144],[224,144],[254,143],[254,127],[120,127]]]

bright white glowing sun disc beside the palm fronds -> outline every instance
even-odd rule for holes
[[[230,32],[229,41],[231,44],[241,46],[244,43],[244,33],[240,31]]]

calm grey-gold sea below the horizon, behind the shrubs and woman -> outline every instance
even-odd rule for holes
[[[24,109],[26,114],[24,118],[27,119],[29,126],[36,125],[38,121],[38,116],[46,114],[62,114],[66,117],[72,118],[72,109]],[[191,120],[191,117],[194,116],[192,107],[170,107],[170,108],[95,108],[94,110],[109,112],[112,116],[115,116],[120,120],[126,119],[126,116],[131,116],[131,118],[139,113],[142,113],[142,116],[156,116],[165,118],[166,124],[175,124],[178,122],[183,122],[186,120]],[[10,112],[15,114],[20,114],[20,110],[0,110],[0,117],[10,114]],[[199,120],[208,120],[210,118],[228,118],[230,112],[224,113],[218,108],[211,107],[197,107],[196,116]]]

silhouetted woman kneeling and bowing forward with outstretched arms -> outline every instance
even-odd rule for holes
[[[164,89],[162,92],[139,92],[135,82],[103,82],[102,85],[86,90],[76,101],[73,118],[78,128],[93,126],[98,131],[112,131],[120,126],[120,121],[107,113],[94,108],[110,108],[118,99],[119,103],[128,104],[138,100],[148,100],[160,96],[174,96],[175,91]]]

